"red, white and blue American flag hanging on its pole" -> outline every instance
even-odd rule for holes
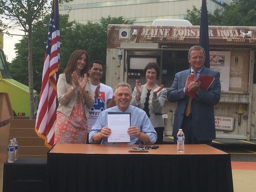
[[[36,133],[52,147],[56,124],[56,72],[60,61],[60,27],[58,0],[52,0],[47,46],[44,57],[42,87],[36,116]]]

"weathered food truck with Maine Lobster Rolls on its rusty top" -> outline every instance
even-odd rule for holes
[[[177,72],[190,68],[188,50],[199,44],[200,26],[114,25],[107,30],[106,84],[146,83],[144,66],[156,61],[157,84],[168,90]],[[221,98],[215,105],[217,138],[256,139],[256,27],[209,26],[210,68],[220,72]],[[118,56],[119,55],[119,56]],[[121,57],[122,55],[122,57]],[[118,60],[118,58],[120,60]],[[122,58],[122,59],[121,59]],[[165,135],[172,134],[177,103],[165,102]]]

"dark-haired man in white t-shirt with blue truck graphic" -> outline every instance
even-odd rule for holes
[[[92,61],[89,65],[88,73],[92,82],[92,89],[94,90],[94,93],[95,93],[94,94],[95,103],[94,103],[94,106],[92,106],[89,109],[87,133],[90,132],[99,114],[103,110],[116,105],[115,100],[112,99],[113,89],[100,82],[100,78],[102,77],[102,74],[103,74],[103,62],[100,60]],[[87,135],[86,143],[89,143],[88,135]]]

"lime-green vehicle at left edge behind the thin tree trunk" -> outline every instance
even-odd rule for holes
[[[11,77],[5,54],[0,49],[0,92],[7,92],[14,116],[29,117],[29,87]],[[37,91],[34,90],[34,115],[37,112]]]

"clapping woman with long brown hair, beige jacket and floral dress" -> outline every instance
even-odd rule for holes
[[[57,108],[54,143],[85,144],[88,109],[94,105],[94,91],[87,77],[88,54],[75,50],[57,82]]]

